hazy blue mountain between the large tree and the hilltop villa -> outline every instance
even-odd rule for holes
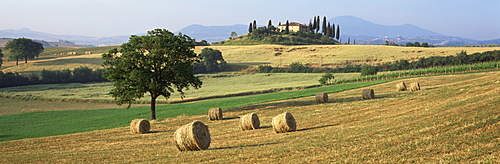
[[[207,42],[218,42],[229,39],[231,32],[238,35],[248,33],[248,25],[235,24],[230,26],[203,26],[190,25],[177,31],[196,39],[196,41],[206,40]]]

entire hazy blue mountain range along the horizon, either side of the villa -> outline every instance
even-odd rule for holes
[[[477,41],[461,37],[446,36],[411,24],[403,24],[399,26],[380,25],[353,16],[339,16],[329,19],[328,21],[334,23],[335,25],[340,25],[342,43],[346,43],[348,38],[351,39],[351,42],[356,40],[356,44],[384,44],[385,41],[393,41],[398,44],[404,44],[407,42],[427,42],[442,46],[463,46],[499,44],[500,42],[500,39]],[[204,26],[194,24],[174,33],[181,32],[189,35],[197,41],[206,40],[209,43],[212,43],[228,39],[233,31],[238,35],[246,34],[248,33],[248,25],[235,24],[228,26]],[[0,30],[0,38],[21,37],[47,42],[59,42],[60,40],[63,40],[63,42],[69,41],[80,45],[110,46],[120,45],[127,42],[130,35],[89,37],[81,35],[55,35],[32,31],[28,28],[22,28],[19,30]],[[58,46],[63,45],[58,44]]]

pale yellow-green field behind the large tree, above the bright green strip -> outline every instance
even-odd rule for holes
[[[321,73],[273,73],[273,74],[206,74],[201,75],[203,85],[200,89],[186,91],[185,100],[204,97],[223,96],[237,93],[252,93],[273,89],[288,88],[289,90],[312,85],[319,85]],[[339,80],[359,76],[359,73],[335,74]],[[223,85],[221,85],[223,84]],[[86,101],[86,102],[111,102],[114,98],[109,95],[113,88],[112,83],[70,83],[46,84],[21,87],[0,88],[0,96],[16,97],[21,99],[44,99],[52,101]],[[168,102],[181,101],[180,95],[174,93]],[[149,103],[148,96],[139,100]],[[165,98],[158,98],[159,103],[168,103]],[[0,106],[0,111],[2,107]],[[1,113],[1,112],[0,112]]]

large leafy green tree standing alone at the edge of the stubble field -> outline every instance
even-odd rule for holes
[[[151,120],[156,119],[156,98],[170,98],[177,91],[184,97],[189,86],[198,89],[202,82],[193,74],[193,63],[200,57],[194,53],[195,41],[181,33],[165,29],[132,35],[120,50],[103,54],[103,76],[112,81],[110,91],[118,105],[131,103],[146,93],[151,96]]]

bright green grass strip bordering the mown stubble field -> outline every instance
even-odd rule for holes
[[[229,97],[193,103],[162,105],[157,107],[157,118],[162,119],[172,118],[180,115],[199,115],[206,113],[209,108],[214,107],[220,107],[222,109],[232,109],[263,102],[313,96],[318,92],[339,92],[387,81],[390,80],[341,84],[335,86],[260,95]],[[132,119],[146,119],[149,118],[149,116],[149,107],[135,107],[129,110],[66,110],[0,115],[0,125],[3,126],[2,135],[4,135],[0,138],[0,141],[122,127],[126,126]],[[29,120],[30,123],[26,124],[21,120]]]

